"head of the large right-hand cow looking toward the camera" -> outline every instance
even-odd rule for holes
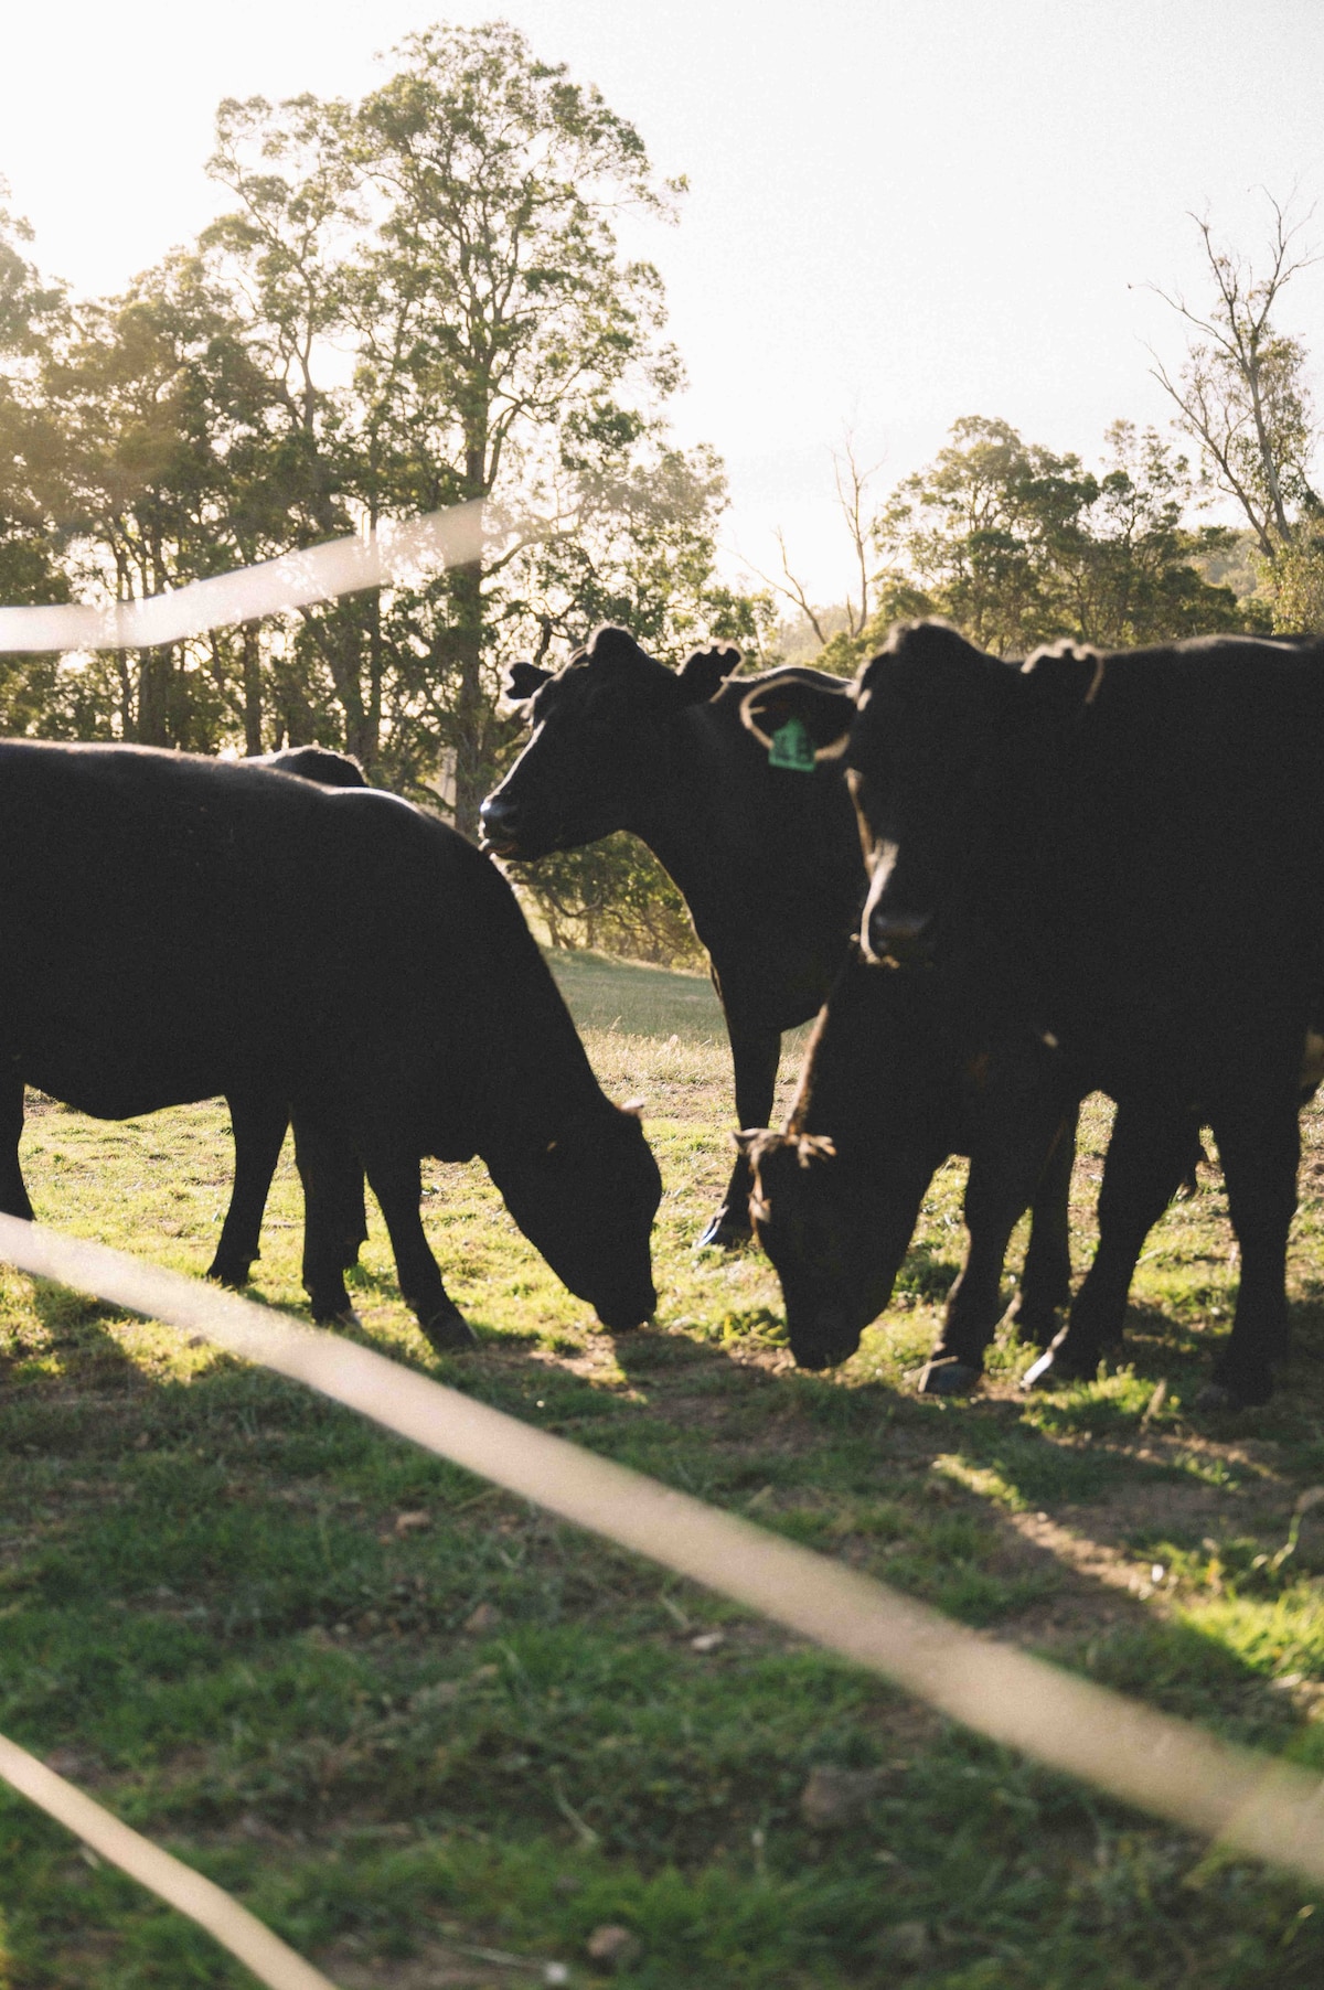
[[[978,949],[1023,913],[1047,830],[1035,850],[1035,800],[1101,669],[1071,649],[1001,663],[944,623],[894,629],[862,669],[846,764],[872,959],[924,963],[954,933]]]

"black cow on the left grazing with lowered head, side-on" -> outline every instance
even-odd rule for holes
[[[605,1325],[653,1311],[657,1164],[464,838],[245,762],[4,742],[0,840],[0,1069],[100,1118],[287,1100],[317,1317],[348,1307],[338,1218],[362,1162],[424,1333],[470,1339],[422,1232],[424,1154],[482,1154]]]

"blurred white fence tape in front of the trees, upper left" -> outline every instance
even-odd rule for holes
[[[484,545],[482,501],[384,523],[354,539],[331,539],[257,567],[191,581],[169,595],[108,607],[0,609],[0,651],[147,649],[207,629],[311,607],[360,587],[384,587],[436,565],[464,565]]]

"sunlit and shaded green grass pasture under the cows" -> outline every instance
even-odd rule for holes
[[[888,1317],[790,1367],[753,1252],[695,1256],[729,1170],[703,981],[557,961],[667,1194],[655,1327],[591,1327],[478,1166],[426,1174],[478,1325],[430,1353],[384,1228],[362,1333],[484,1401],[1324,1771],[1324,1114],[1306,1118],[1278,1401],[1189,1415],[1234,1278],[1216,1174],[1139,1270],[1135,1367],[970,1403],[908,1375],[960,1256],[934,1182]],[[782,1093],[788,1093],[788,1079]],[[1077,1270],[1107,1122],[1087,1120]],[[32,1102],[44,1220],[199,1272],[221,1106],[98,1124]],[[283,1162],[255,1295],[299,1309]],[[344,1990],[1246,1990],[1324,1980],[1324,1900],[986,1745],[293,1383],[0,1270],[0,1731],[233,1889]],[[830,1773],[824,1773],[830,1771]],[[631,1942],[615,1972],[593,1930]],[[249,1978],[0,1793],[0,1986]],[[548,1972],[563,1964],[563,1974]]]

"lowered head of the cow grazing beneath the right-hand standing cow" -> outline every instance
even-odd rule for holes
[[[848,1361],[886,1307],[920,1216],[932,1166],[878,1178],[836,1154],[826,1138],[743,1132],[751,1222],[772,1260],[798,1367]]]

